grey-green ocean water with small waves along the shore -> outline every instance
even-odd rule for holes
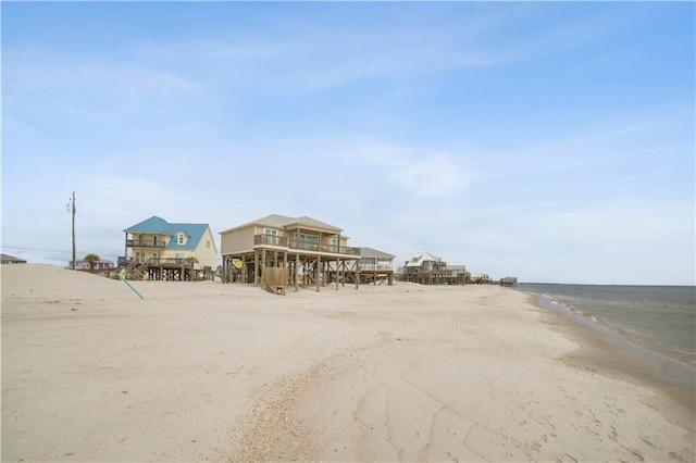
[[[627,345],[696,368],[696,287],[520,284],[518,289]]]

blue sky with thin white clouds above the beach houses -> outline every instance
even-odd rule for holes
[[[2,3],[2,250],[277,213],[495,278],[695,283],[695,5]]]

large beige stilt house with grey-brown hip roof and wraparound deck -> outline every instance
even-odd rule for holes
[[[348,246],[337,226],[312,217],[265,217],[221,234],[223,281],[262,287],[330,283],[359,286],[360,249]]]

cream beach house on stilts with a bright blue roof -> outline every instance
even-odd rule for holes
[[[156,215],[123,230],[130,278],[189,280],[212,278],[217,248],[208,224],[169,223]]]

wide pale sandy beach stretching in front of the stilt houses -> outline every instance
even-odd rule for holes
[[[513,289],[0,277],[3,462],[695,460],[693,389]]]

